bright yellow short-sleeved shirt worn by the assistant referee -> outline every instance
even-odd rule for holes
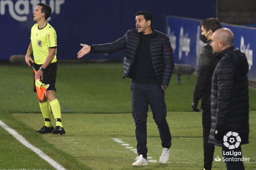
[[[46,22],[46,25],[42,29],[38,29],[37,23],[34,24],[31,28],[30,40],[33,48],[34,62],[36,64],[44,64],[49,55],[49,49],[57,47],[56,31],[48,22]],[[56,53],[51,63],[57,61]]]

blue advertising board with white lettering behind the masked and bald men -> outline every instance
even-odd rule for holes
[[[200,40],[201,20],[168,16],[167,22],[167,34],[174,49],[174,62],[190,64],[197,68],[200,51],[206,45]],[[253,61],[253,51],[256,51],[256,28],[225,23],[222,23],[222,27],[229,28],[234,33],[234,46],[247,57],[248,78],[256,82],[256,61]]]

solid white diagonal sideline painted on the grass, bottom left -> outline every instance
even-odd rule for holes
[[[33,152],[35,152],[38,156],[40,156],[42,159],[44,159],[46,162],[48,162],[51,166],[53,166],[57,170],[66,170],[63,166],[61,166],[59,163],[55,162],[53,159],[51,159],[48,155],[46,155],[42,150],[36,148],[31,143],[29,143],[23,136],[18,134],[14,129],[7,126],[4,122],[0,120],[0,126],[4,128],[6,131],[8,131],[13,137],[15,137],[20,143],[22,143],[27,148],[31,149]]]

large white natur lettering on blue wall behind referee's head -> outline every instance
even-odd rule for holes
[[[36,8],[36,5],[40,3],[39,0],[18,0],[15,4],[11,0],[1,0],[0,1],[0,14],[5,14],[5,7],[9,7],[9,13],[11,17],[13,17],[15,20],[24,22],[28,19],[27,16],[31,14],[32,18],[32,12],[29,11],[29,3],[32,5],[32,11]],[[41,3],[46,4],[46,0],[41,0]],[[60,14],[60,6],[65,3],[65,0],[49,0],[49,5],[51,7],[51,12],[53,13],[55,10],[56,14]],[[50,17],[48,18],[48,21],[50,20]]]

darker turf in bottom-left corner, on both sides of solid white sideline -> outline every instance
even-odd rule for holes
[[[70,153],[64,152],[61,148],[56,148],[53,143],[48,143],[41,134],[34,133],[34,129],[20,120],[14,119],[11,115],[2,115],[1,120],[65,168],[91,169],[86,164],[79,162],[75,157],[71,156]],[[54,169],[49,163],[18,142],[2,127],[0,127],[0,136],[0,169]],[[60,139],[61,137],[59,135],[56,138]]]

